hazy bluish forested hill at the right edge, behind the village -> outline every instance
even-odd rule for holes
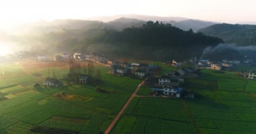
[[[202,28],[198,32],[219,37],[225,43],[235,43],[241,46],[256,45],[256,25],[223,23]]]

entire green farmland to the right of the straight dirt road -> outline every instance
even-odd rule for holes
[[[256,81],[232,72],[203,69],[203,74],[185,79],[195,99],[134,98],[111,133],[255,134]],[[149,93],[141,89],[137,95]]]

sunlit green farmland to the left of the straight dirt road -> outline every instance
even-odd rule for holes
[[[82,61],[87,65],[88,62]],[[58,79],[69,72],[68,61],[40,61],[3,64],[0,75],[0,133],[98,134],[120,111],[141,80],[117,77],[109,67],[101,70],[101,88],[71,83],[61,87],[38,87],[53,70]],[[50,74],[48,73],[48,70]],[[64,81],[65,82],[65,81]],[[62,94],[58,97],[57,94]]]

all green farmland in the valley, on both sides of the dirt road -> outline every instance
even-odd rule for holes
[[[154,62],[149,62],[154,64]],[[88,64],[83,61],[82,64]],[[177,68],[158,63],[165,74]],[[101,70],[101,88],[75,83],[34,88],[53,70],[58,79],[69,72],[68,61],[20,62],[0,66],[0,134],[99,134],[105,131],[141,80]],[[48,70],[50,73],[48,73]],[[233,72],[203,69],[185,79],[195,99],[144,97],[141,87],[111,134],[255,134],[256,81]],[[140,96],[142,95],[142,96]]]

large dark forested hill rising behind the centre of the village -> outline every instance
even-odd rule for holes
[[[123,31],[104,30],[100,36],[87,39],[87,44],[112,44],[100,52],[139,59],[171,60],[200,56],[207,46],[221,42],[217,37],[183,31],[171,24],[148,21],[142,27],[125,28]]]

